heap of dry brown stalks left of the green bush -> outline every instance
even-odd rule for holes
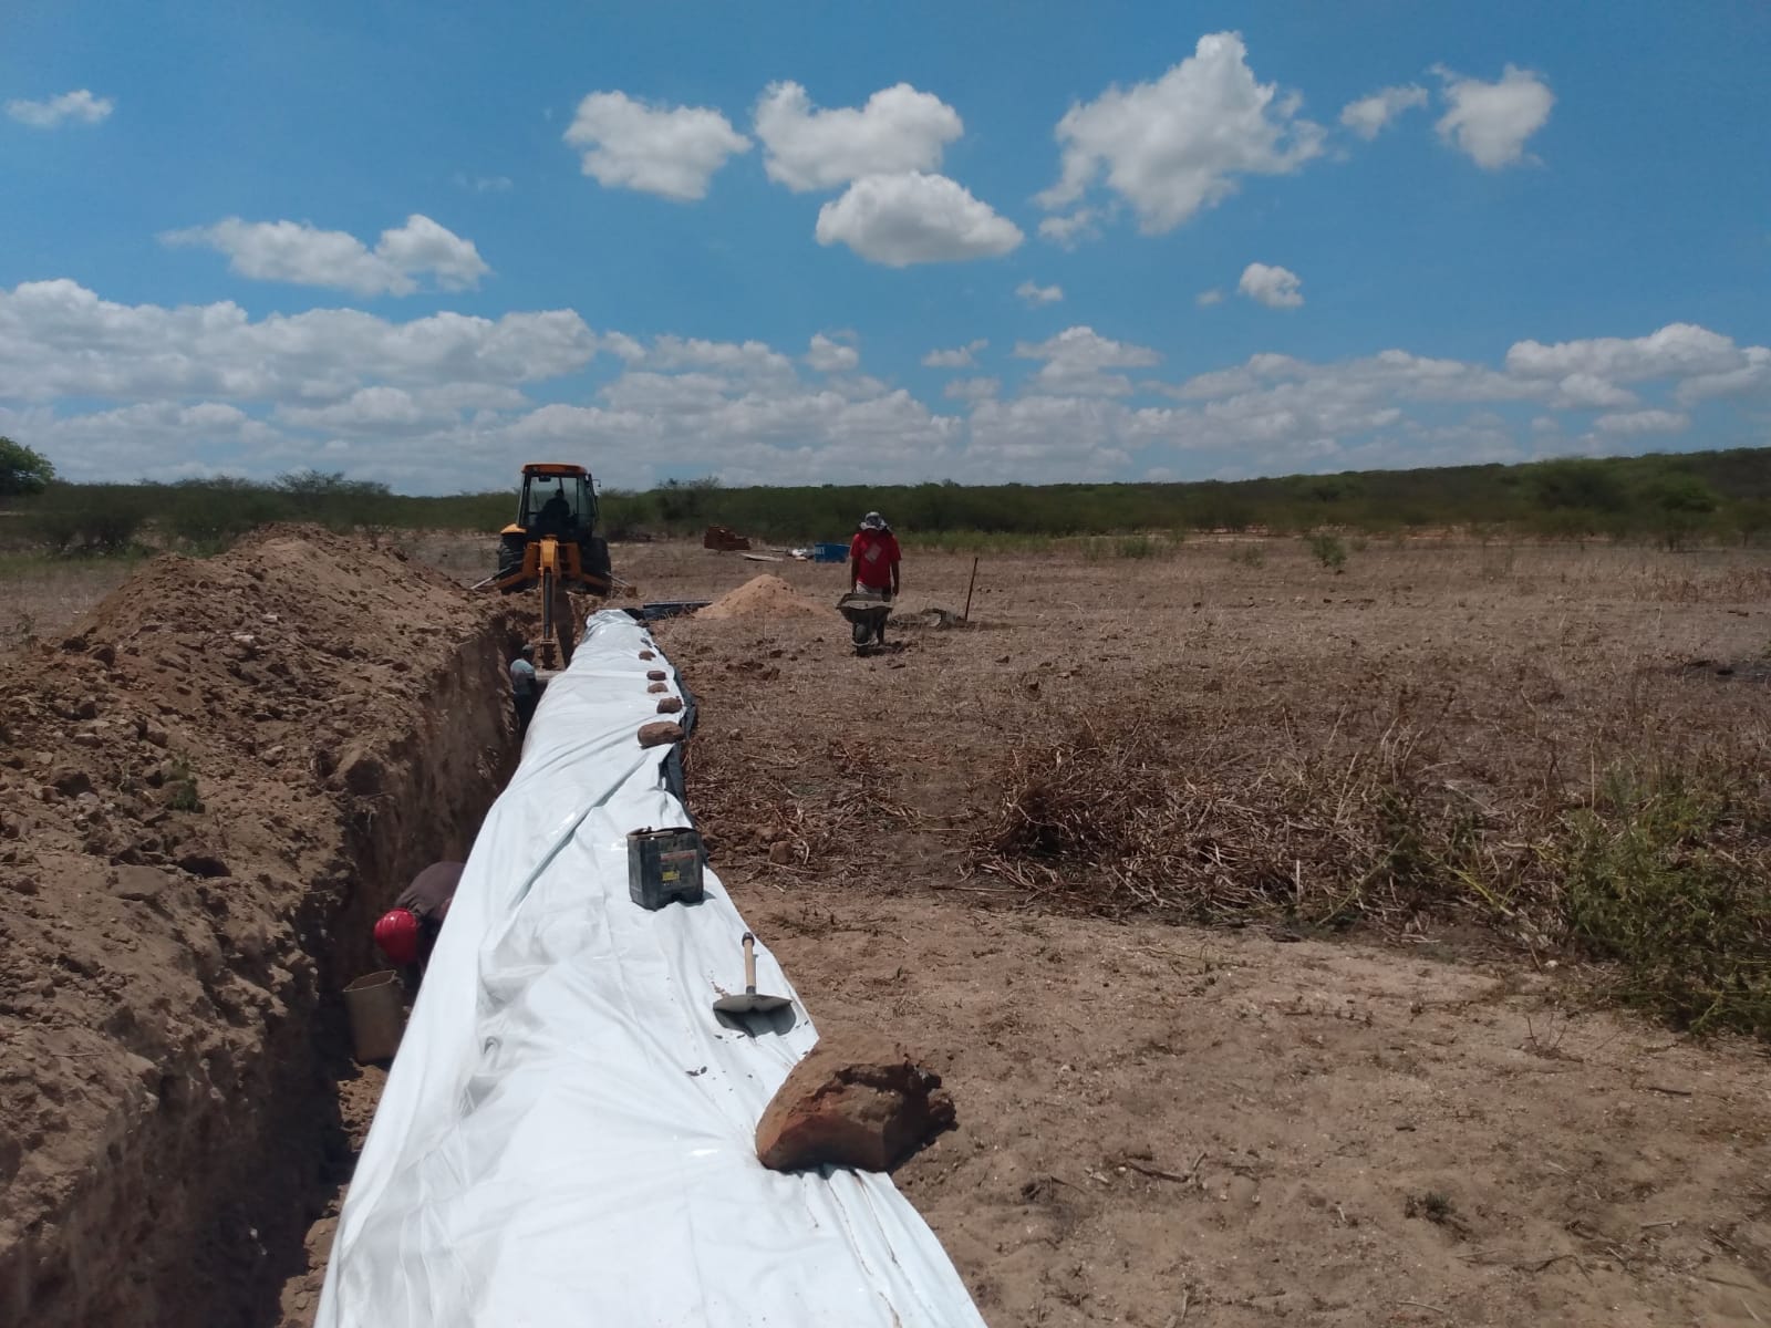
[[[1256,753],[1210,722],[1112,712],[1022,744],[976,869],[1102,914],[1401,928],[1419,887],[1468,857],[1479,816],[1422,777],[1426,730],[1406,715],[1351,754],[1282,731]]]

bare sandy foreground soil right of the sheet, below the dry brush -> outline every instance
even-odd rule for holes
[[[1750,1048],[1360,946],[740,892],[820,1029],[930,1048],[960,1128],[898,1172],[1008,1324],[1750,1324]]]

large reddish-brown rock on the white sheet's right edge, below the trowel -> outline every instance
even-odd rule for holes
[[[878,1034],[822,1038],[793,1066],[763,1119],[756,1156],[774,1170],[893,1170],[955,1123],[940,1075]]]

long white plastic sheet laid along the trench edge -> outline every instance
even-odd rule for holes
[[[719,1025],[739,917],[627,896],[627,832],[685,825],[625,613],[590,623],[485,818],[338,1222],[319,1328],[983,1328],[886,1176],[781,1176],[754,1128],[816,1041]],[[675,692],[675,683],[671,683]],[[756,953],[758,990],[793,995]]]

